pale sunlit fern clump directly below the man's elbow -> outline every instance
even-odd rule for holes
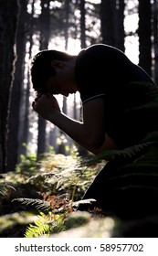
[[[77,156],[48,153],[40,159],[37,171],[27,182],[35,185],[40,192],[47,190],[60,195],[63,191],[70,191],[71,195],[75,192],[75,199],[79,199],[100,170],[99,166],[87,168],[79,166],[79,163]]]

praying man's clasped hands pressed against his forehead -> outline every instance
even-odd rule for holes
[[[50,120],[54,112],[61,112],[57,99],[50,93],[38,94],[35,101],[32,102],[32,107],[47,120]]]

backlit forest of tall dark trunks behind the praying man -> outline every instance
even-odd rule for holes
[[[158,82],[157,0],[0,1],[0,172],[14,170],[19,155],[78,151],[64,133],[32,111],[30,59],[56,48],[78,54],[105,43],[124,51]],[[63,112],[80,119],[79,95],[59,96]]]

